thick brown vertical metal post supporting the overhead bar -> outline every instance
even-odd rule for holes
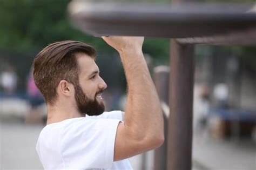
[[[194,45],[171,40],[169,170],[192,168]]]

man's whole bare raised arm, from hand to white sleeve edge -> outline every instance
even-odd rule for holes
[[[103,37],[121,57],[128,86],[124,123],[119,123],[114,161],[132,157],[164,142],[163,114],[147,68],[144,37]]]

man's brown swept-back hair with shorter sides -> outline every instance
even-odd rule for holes
[[[33,60],[33,77],[46,103],[53,105],[57,98],[57,86],[61,80],[78,83],[77,54],[96,58],[96,50],[85,43],[64,40],[46,46]]]

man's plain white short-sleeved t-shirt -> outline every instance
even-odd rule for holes
[[[36,145],[44,169],[132,169],[127,159],[113,161],[120,120],[112,111],[45,126]]]

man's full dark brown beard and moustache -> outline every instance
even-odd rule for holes
[[[95,98],[90,99],[86,96],[86,94],[83,92],[82,87],[79,84],[75,84],[75,100],[77,104],[77,109],[85,116],[87,115],[100,115],[105,111],[105,106],[103,102],[98,102],[96,99],[97,94],[100,94],[103,92],[103,90],[100,90],[96,92]]]

